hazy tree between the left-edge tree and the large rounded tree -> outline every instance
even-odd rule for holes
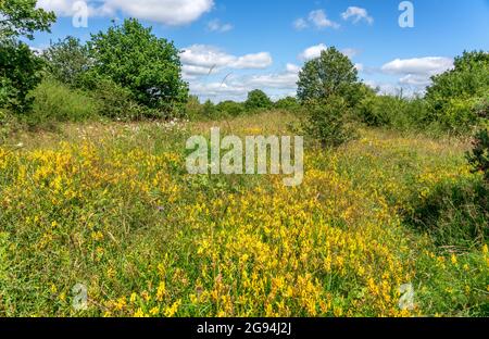
[[[59,40],[42,53],[48,72],[63,84],[76,87],[80,76],[87,72],[92,62],[88,48],[79,39],[66,37]]]

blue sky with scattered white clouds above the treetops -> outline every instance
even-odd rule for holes
[[[489,0],[412,0],[414,27],[401,27],[400,0],[39,0],[59,21],[30,42],[87,40],[111,21],[137,17],[181,49],[184,77],[201,100],[243,100],[260,88],[294,95],[298,72],[335,46],[361,78],[385,92],[423,91],[464,50],[489,50]],[[75,23],[77,21],[75,20]]]

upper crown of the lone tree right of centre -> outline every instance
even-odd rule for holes
[[[302,103],[308,100],[327,99],[330,96],[344,98],[350,108],[355,106],[363,96],[355,66],[335,47],[305,63],[299,73],[297,92]]]

